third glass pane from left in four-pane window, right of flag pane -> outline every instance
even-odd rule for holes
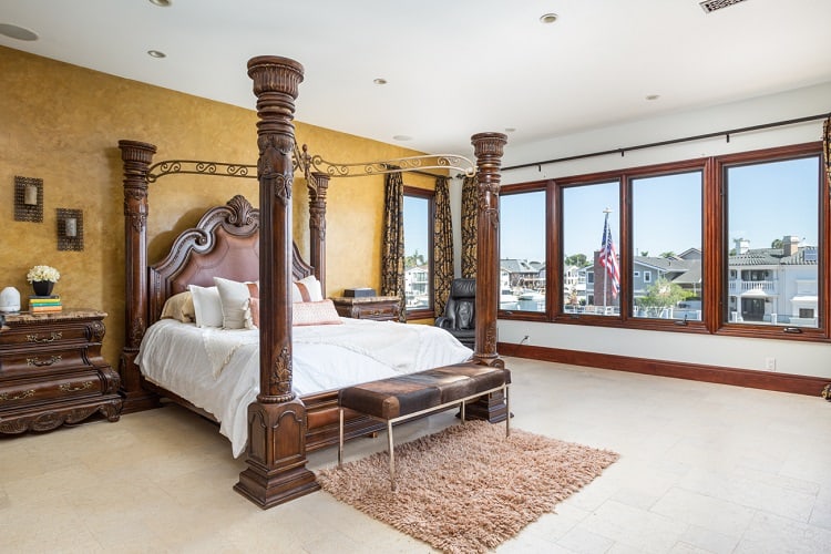
[[[632,315],[701,320],[702,172],[632,179]]]

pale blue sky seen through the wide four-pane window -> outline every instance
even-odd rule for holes
[[[751,248],[796,235],[817,245],[817,157],[739,166],[728,171],[730,239],[746,238]],[[637,254],[659,256],[701,247],[701,173],[640,178],[633,183],[633,238]],[[545,194],[500,197],[501,257],[545,258]],[[617,182],[564,191],[565,254],[599,249],[606,214],[619,254]],[[732,246],[732,245],[731,245]]]

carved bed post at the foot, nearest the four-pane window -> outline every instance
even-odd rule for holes
[[[476,156],[479,212],[476,216],[476,343],[473,359],[484,366],[505,367],[496,352],[496,310],[500,293],[500,166],[507,136],[479,133],[471,137]],[[492,393],[469,406],[468,412],[491,423],[507,416],[502,393]]]

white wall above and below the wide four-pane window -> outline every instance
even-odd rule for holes
[[[656,116],[648,121],[625,123],[533,144],[512,144],[512,136],[509,136],[503,167],[829,112],[831,112],[831,83],[824,83],[771,96],[691,111],[681,115]],[[521,137],[516,138],[519,141]],[[613,154],[543,165],[541,171],[537,167],[505,171],[502,174],[502,184],[678,162],[821,138],[822,121],[818,120],[736,134],[730,136],[729,142],[725,137],[719,137],[633,151],[623,157],[619,154]],[[454,225],[458,224],[454,222]],[[740,369],[763,370],[766,358],[776,358],[776,370],[779,372],[831,378],[831,346],[828,343],[514,320],[501,320],[499,332],[499,340],[503,342],[519,343],[527,335],[530,340],[525,343],[541,347]]]

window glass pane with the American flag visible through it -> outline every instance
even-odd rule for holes
[[[563,311],[618,316],[619,183],[563,188]]]

